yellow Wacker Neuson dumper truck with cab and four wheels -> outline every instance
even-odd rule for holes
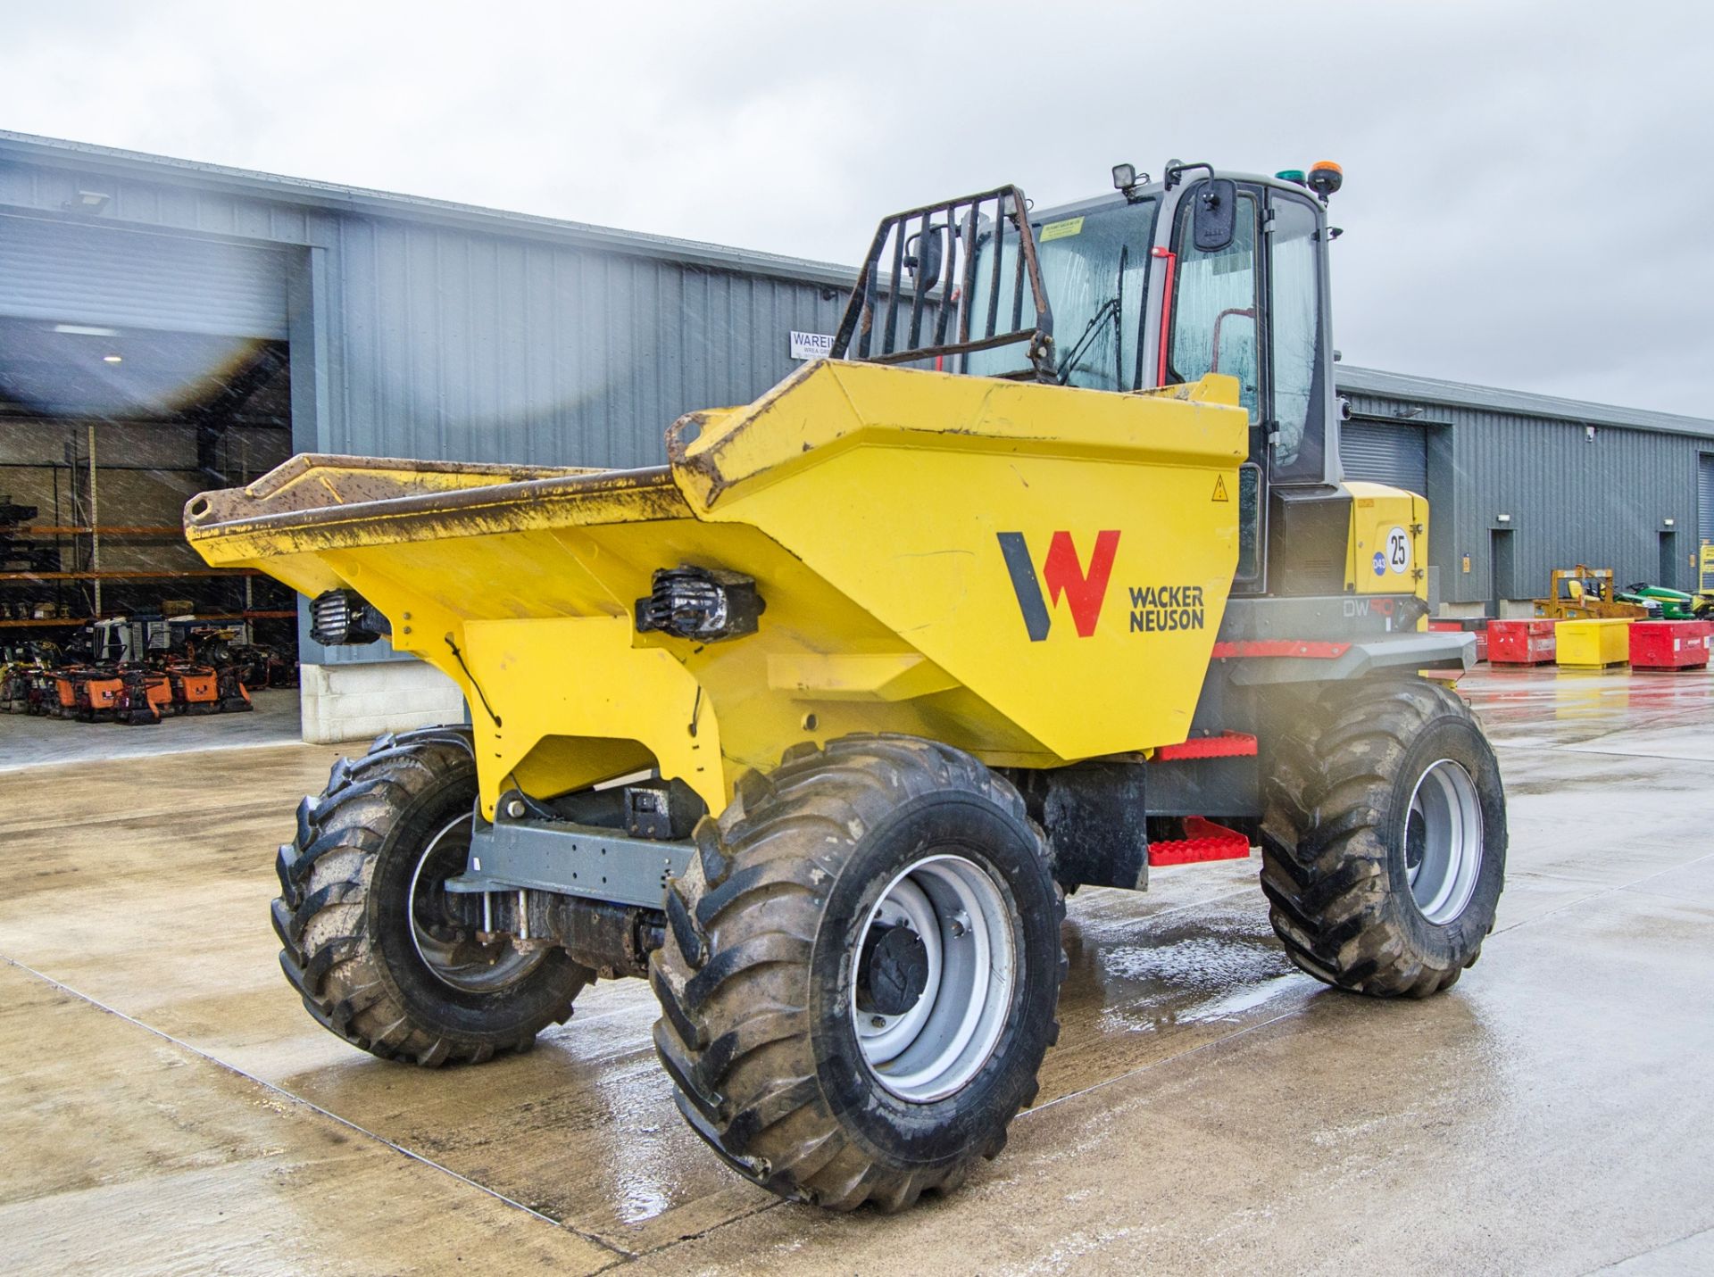
[[[835,338],[665,465],[298,456],[207,562],[389,634],[468,723],[298,807],[281,965],[384,1059],[480,1063],[646,977],[739,1174],[900,1208],[992,1157],[1058,1037],[1064,893],[1250,855],[1287,955],[1476,962],[1505,799],[1428,633],[1428,507],[1342,482],[1333,165],[1114,170],[886,218]]]

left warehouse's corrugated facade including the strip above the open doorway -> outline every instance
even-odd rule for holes
[[[675,259],[675,245],[653,237],[408,199],[396,201],[399,216],[353,211],[387,206],[367,192],[303,207],[303,183],[290,180],[278,180],[273,204],[223,189],[238,183],[221,170],[125,161],[123,171],[87,177],[75,159],[0,154],[0,207],[81,233],[125,225],[310,249],[314,259],[288,255],[321,293],[288,279],[293,365],[321,365],[314,396],[293,379],[293,411],[312,422],[300,447],[653,465],[665,459],[662,437],[677,417],[754,399],[797,367],[788,334],[833,333],[845,303],[836,273],[811,262],[794,278],[785,259],[684,245],[696,250],[686,257],[737,264],[718,269]],[[69,216],[91,187],[108,195],[101,211]],[[638,250],[584,247],[579,235]]]

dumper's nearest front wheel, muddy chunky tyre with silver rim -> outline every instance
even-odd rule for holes
[[[914,737],[751,773],[650,963],[679,1109],[739,1174],[850,1210],[994,1157],[1059,1037],[1064,898],[1016,790]]]

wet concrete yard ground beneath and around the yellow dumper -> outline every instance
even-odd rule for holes
[[[1085,890],[1039,1106],[898,1217],[730,1176],[672,1107],[639,982],[476,1070],[315,1027],[266,910],[327,747],[3,773],[7,1267],[1711,1272],[1714,677],[1464,691],[1512,854],[1450,994],[1297,975],[1255,860]]]

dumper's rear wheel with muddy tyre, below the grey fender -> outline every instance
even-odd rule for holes
[[[1376,998],[1457,982],[1493,931],[1505,794],[1452,689],[1376,679],[1328,689],[1272,742],[1262,890],[1291,960]]]

